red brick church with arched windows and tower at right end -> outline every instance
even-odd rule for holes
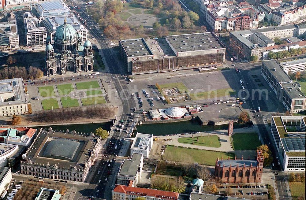
[[[263,173],[263,155],[257,150],[256,160],[216,160],[215,177],[222,183],[260,183]]]

